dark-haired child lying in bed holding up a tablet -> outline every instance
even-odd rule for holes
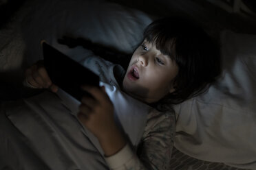
[[[85,66],[100,75],[105,87],[82,86],[84,96],[77,117],[98,139],[110,169],[170,169],[175,118],[171,104],[202,93],[220,73],[220,58],[209,36],[181,19],[159,19],[151,23],[144,40],[134,51],[125,72],[101,58],[87,58]],[[28,86],[50,88],[43,64],[25,72]],[[136,151],[114,119],[115,100],[108,84],[156,108],[147,114],[147,123]]]

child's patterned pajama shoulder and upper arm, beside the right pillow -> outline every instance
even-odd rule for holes
[[[170,169],[173,138],[175,135],[175,114],[151,110],[137,154],[146,167]]]

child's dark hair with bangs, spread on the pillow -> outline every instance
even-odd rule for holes
[[[220,53],[201,27],[177,18],[158,19],[144,32],[144,39],[178,64],[173,80],[175,91],[162,99],[162,104],[179,104],[199,95],[220,74]],[[160,101],[160,103],[161,103]]]

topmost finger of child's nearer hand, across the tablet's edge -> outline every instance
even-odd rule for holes
[[[107,93],[105,93],[101,88],[96,86],[82,86],[82,89],[91,94],[97,101],[104,103],[106,100],[109,100]]]

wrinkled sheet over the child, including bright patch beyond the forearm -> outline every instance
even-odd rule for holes
[[[114,105],[115,120],[136,151],[150,108],[104,86],[110,98],[119,101]],[[45,91],[2,104],[0,168],[108,169],[97,138],[76,118],[78,104],[61,89],[57,95]]]

